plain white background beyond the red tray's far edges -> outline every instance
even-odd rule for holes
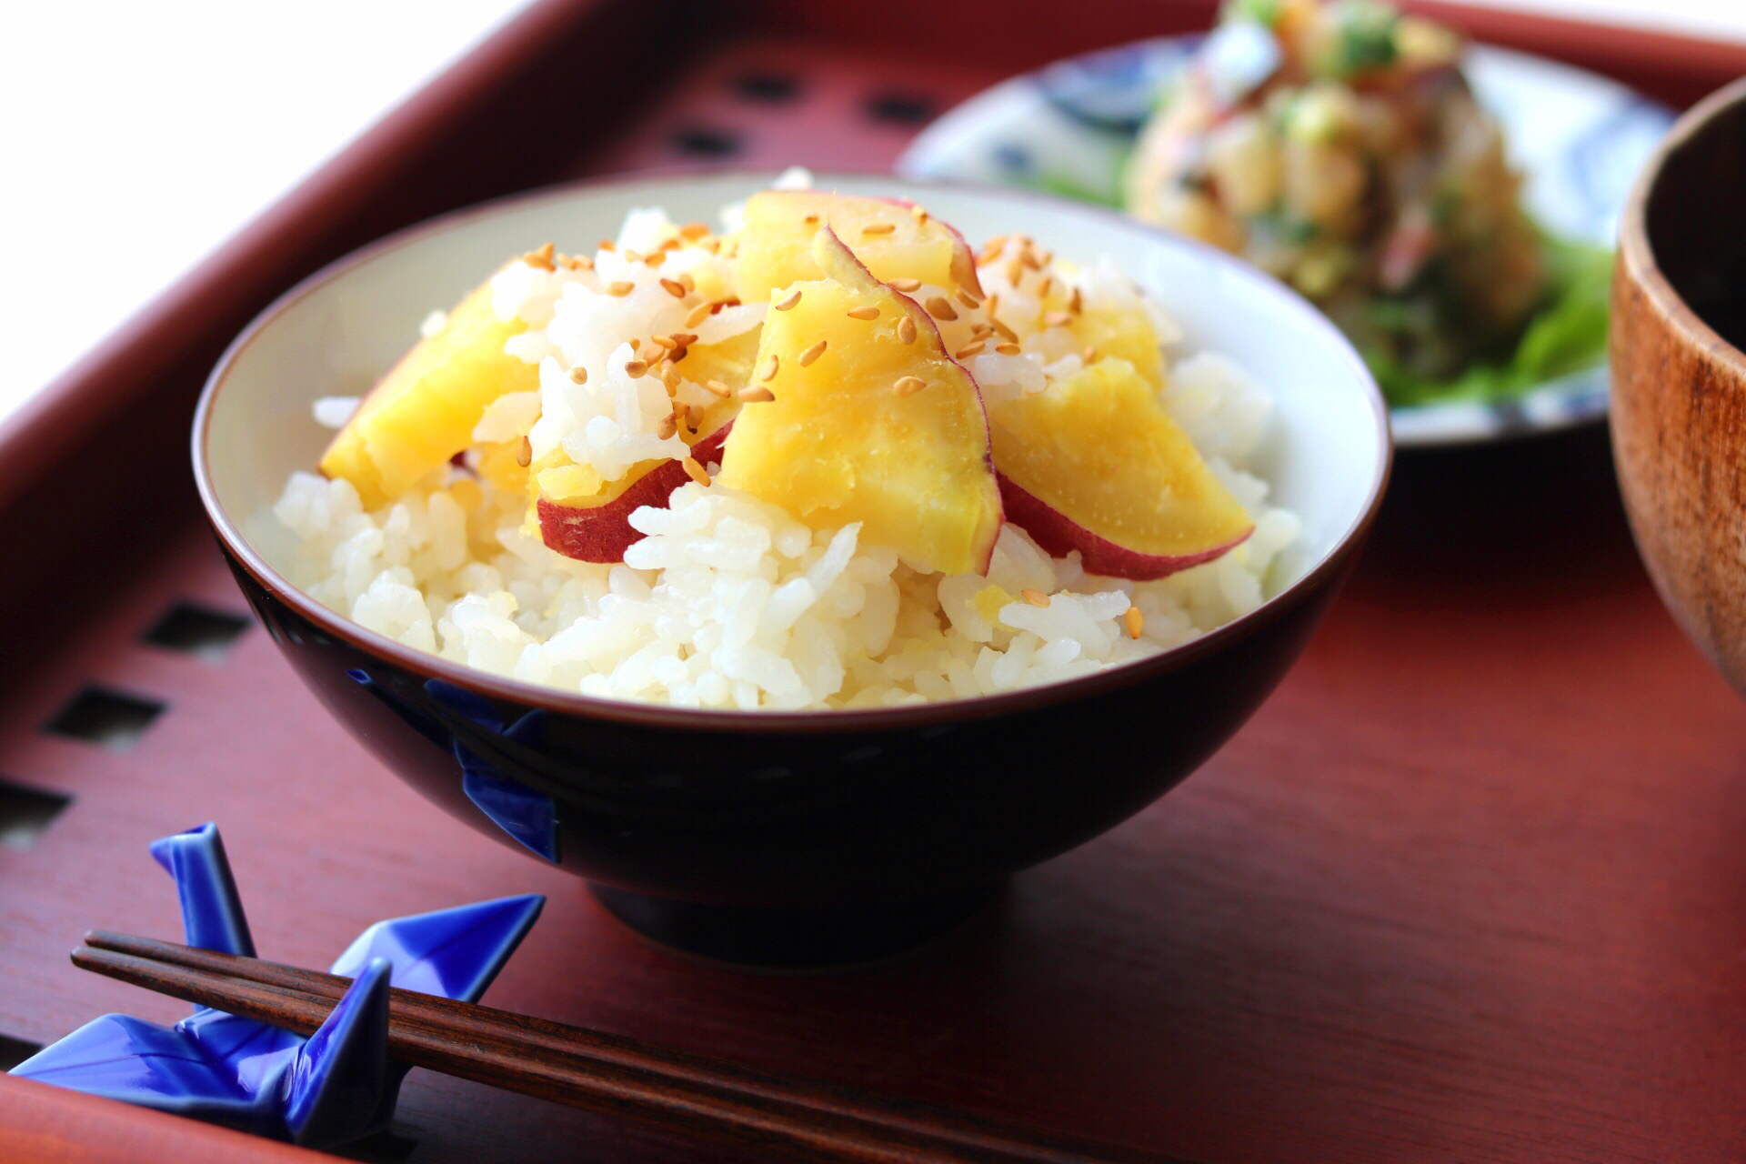
[[[1746,0],[1486,2],[1746,42]],[[519,7],[9,5],[0,417]]]

